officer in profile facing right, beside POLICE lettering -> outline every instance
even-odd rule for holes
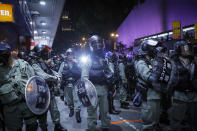
[[[158,68],[160,64],[155,64],[158,63],[158,60],[152,61],[152,59],[158,55],[157,51],[161,49],[162,46],[158,40],[144,40],[141,43],[134,63],[137,75],[136,89],[142,94],[142,130],[161,130],[159,127],[160,99],[161,92],[163,92],[164,89],[162,88],[163,86],[161,86],[161,84],[163,84],[163,76],[162,81],[159,81],[159,78],[163,70]],[[163,65],[161,67],[163,67]],[[165,87],[166,86],[164,86],[164,88]]]

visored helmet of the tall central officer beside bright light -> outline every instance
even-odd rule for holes
[[[93,35],[92,37],[90,37],[89,46],[91,52],[95,53],[98,56],[103,55],[104,43],[98,35]]]

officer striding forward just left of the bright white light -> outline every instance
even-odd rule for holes
[[[67,58],[62,62],[58,73],[62,76],[62,84],[64,87],[65,101],[70,109],[69,117],[74,115],[74,107],[76,111],[76,120],[81,122],[80,106],[78,103],[74,103],[75,94],[73,93],[74,83],[81,76],[81,69],[77,65],[77,61],[74,59],[74,54],[71,48],[66,51]]]

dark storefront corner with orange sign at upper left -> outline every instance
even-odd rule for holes
[[[0,41],[12,49],[29,49],[32,37],[31,16],[26,1],[0,0]]]

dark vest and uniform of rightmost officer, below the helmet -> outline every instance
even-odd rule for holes
[[[190,127],[192,131],[197,130],[197,90],[192,84],[191,78],[192,65],[196,63],[193,59],[187,57],[181,57],[182,53],[178,57],[174,57],[173,66],[176,68],[175,78],[176,85],[173,91],[173,103],[169,109],[170,128],[172,131],[181,130],[181,122],[184,117],[189,114]],[[191,73],[191,74],[190,74]],[[194,77],[196,77],[194,75]],[[192,103],[192,104],[191,104]]]

